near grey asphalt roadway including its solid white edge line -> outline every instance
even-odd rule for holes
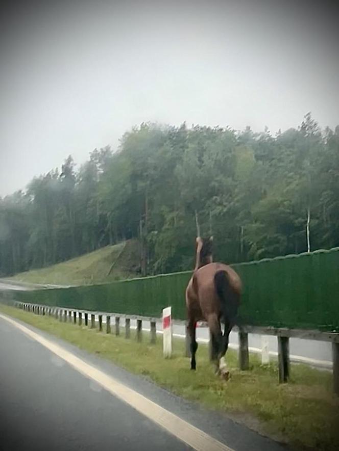
[[[225,415],[2,314],[0,362],[3,451],[286,451]]]

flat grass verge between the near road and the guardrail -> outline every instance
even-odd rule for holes
[[[115,337],[13,307],[0,305],[0,311],[99,354],[188,400],[226,412],[236,421],[296,449],[339,448],[339,400],[332,394],[329,372],[294,364],[290,383],[279,385],[276,363],[263,366],[257,356],[251,355],[251,369],[240,372],[236,353],[229,350],[232,378],[224,382],[214,376],[203,344],[199,345],[194,373],[189,370],[189,360],[183,357],[184,342],[180,339],[174,340],[173,357],[164,359],[161,336],[157,344],[151,345],[148,334],[143,332],[143,342],[137,343],[133,331],[131,339],[126,340],[123,330],[122,336]]]

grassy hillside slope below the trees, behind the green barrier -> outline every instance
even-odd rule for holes
[[[108,276],[115,261],[113,270]],[[19,273],[7,280],[54,285],[102,283],[135,277],[137,264],[137,242],[130,240],[50,267]]]

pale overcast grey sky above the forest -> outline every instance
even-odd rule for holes
[[[0,196],[141,122],[275,134],[339,124],[339,8],[276,0],[11,1],[0,18]]]

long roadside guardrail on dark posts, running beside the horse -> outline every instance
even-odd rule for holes
[[[13,303],[11,303],[13,304]],[[159,317],[130,315],[124,313],[101,312],[93,310],[76,309],[61,306],[49,306],[27,302],[14,301],[14,306],[23,310],[27,310],[36,314],[54,316],[55,319],[61,322],[72,322],[90,328],[95,328],[95,316],[98,316],[99,330],[103,331],[103,317],[106,317],[106,333],[111,333],[111,318],[114,317],[114,333],[116,336],[120,335],[120,319],[125,319],[125,337],[131,336],[131,320],[136,320],[136,340],[142,341],[142,322],[150,323],[150,342],[156,342],[157,322],[160,322]],[[173,324],[186,325],[185,321],[173,320]],[[202,326],[207,326],[202,322]],[[239,349],[238,362],[240,370],[249,369],[249,346],[248,334],[260,335],[275,335],[278,340],[278,365],[279,365],[279,382],[288,382],[290,374],[290,360],[289,360],[289,338],[302,338],[310,340],[329,341],[332,343],[333,351],[333,391],[339,395],[339,333],[321,332],[318,330],[298,330],[275,327],[258,327],[258,326],[240,326],[234,327],[234,331],[238,333]],[[189,357],[189,337],[186,330],[185,339],[185,355]],[[211,341],[209,345],[211,355]]]

